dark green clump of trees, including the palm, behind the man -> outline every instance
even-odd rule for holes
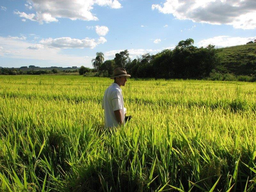
[[[193,46],[194,40],[182,40],[174,50],[165,49],[155,55],[146,53],[131,60],[127,50],[116,53],[113,60],[104,61],[104,54],[97,52],[92,60],[95,76],[111,76],[114,68],[125,68],[127,73],[137,78],[189,78],[202,79],[209,76],[219,58],[213,45],[206,48]],[[104,61],[104,62],[103,62]],[[89,72],[82,66],[80,75]]]

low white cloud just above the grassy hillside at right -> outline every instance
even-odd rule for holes
[[[246,44],[249,41],[253,41],[255,37],[231,37],[231,36],[216,36],[209,39],[204,39],[198,42],[199,47],[206,47],[209,44],[217,47],[229,47],[235,45]]]

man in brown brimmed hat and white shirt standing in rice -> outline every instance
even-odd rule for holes
[[[130,77],[124,68],[114,69],[114,79],[104,92],[102,109],[104,109],[105,128],[117,127],[125,124],[126,109],[124,108],[124,99],[121,86],[124,86],[127,78]]]

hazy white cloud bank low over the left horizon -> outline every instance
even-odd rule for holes
[[[92,67],[91,60],[76,55],[67,55],[61,52],[60,48],[42,47],[41,45],[28,43],[24,40],[0,36],[0,55],[6,58],[44,60],[47,65],[50,63],[60,66],[87,66]],[[42,45],[43,46],[43,45]],[[29,49],[28,47],[35,49]]]

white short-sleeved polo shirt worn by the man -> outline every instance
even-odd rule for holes
[[[102,109],[104,109],[105,128],[118,126],[114,113],[118,109],[121,109],[124,122],[124,99],[122,89],[118,84],[112,83],[104,92]]]

